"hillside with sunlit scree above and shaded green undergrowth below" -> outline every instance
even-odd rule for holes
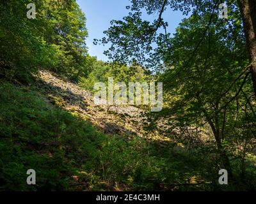
[[[143,136],[140,117],[130,119],[138,108],[107,113],[90,92],[49,71],[40,71],[35,86],[2,81],[0,96],[3,189],[172,190],[184,178],[196,184],[182,147],[164,150]],[[29,168],[36,187],[26,185]]]

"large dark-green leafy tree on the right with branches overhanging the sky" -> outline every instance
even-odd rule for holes
[[[248,75],[253,74],[252,59],[245,50],[247,37],[238,4],[228,1],[231,9],[226,20],[218,18],[219,1],[132,0],[131,3],[129,16],[113,20],[105,31],[107,38],[100,40],[111,43],[105,53],[115,61],[131,62],[135,58],[139,64],[156,68],[159,80],[165,82],[166,109],[170,109],[159,115],[175,114],[175,126],[179,127],[208,123],[221,166],[231,173],[224,144],[234,143],[234,134],[241,140],[255,135],[253,86],[248,82]],[[174,38],[167,33],[168,22],[162,17],[168,7],[184,14],[193,11],[180,24]],[[148,15],[158,12],[157,19],[152,23],[142,20],[143,9]]]

